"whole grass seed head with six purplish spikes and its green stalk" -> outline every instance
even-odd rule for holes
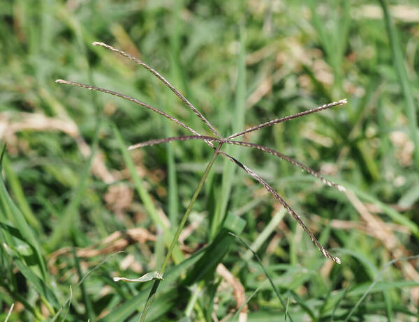
[[[214,148],[214,155],[212,157],[212,159],[210,160],[210,163],[207,165],[207,169],[205,169],[205,172],[201,178],[200,183],[198,184],[198,187],[195,191],[195,193],[193,194],[193,197],[191,199],[191,202],[189,203],[188,208],[186,209],[186,212],[184,214],[184,217],[182,218],[182,221],[179,224],[179,227],[177,228],[177,231],[175,233],[174,238],[172,239],[172,242],[170,243],[170,247],[168,249],[168,253],[165,257],[165,260],[163,261],[161,268],[159,269],[159,273],[156,274],[156,276],[158,275],[159,278],[153,278],[155,279],[154,281],[154,286],[152,291],[150,292],[149,298],[147,299],[147,302],[145,304],[145,309],[141,314],[140,317],[140,321],[145,321],[145,316],[147,314],[147,311],[149,309],[149,305],[151,304],[152,301],[152,296],[154,296],[154,293],[157,290],[157,287],[159,286],[160,281],[163,279],[163,274],[166,270],[166,266],[168,264],[168,260],[170,259],[170,257],[172,256],[172,252],[173,249],[175,247],[175,244],[177,243],[177,239],[179,238],[180,233],[182,232],[182,229],[184,228],[184,225],[186,224],[186,220],[188,220],[189,214],[191,213],[193,204],[196,200],[196,198],[198,197],[198,194],[200,192],[200,189],[203,187],[203,184],[205,182],[205,179],[207,178],[207,175],[212,167],[212,164],[214,164],[215,158],[217,155],[223,155],[224,157],[226,157],[228,160],[235,162],[235,164],[237,164],[240,168],[244,169],[244,171],[246,171],[250,176],[252,176],[254,179],[256,179],[256,181],[258,181],[259,183],[261,183],[268,192],[270,192],[273,197],[275,199],[277,199],[277,201],[280,202],[280,204],[282,206],[284,206],[284,208],[286,208],[286,210],[288,210],[288,213],[290,213],[294,219],[298,222],[298,224],[300,224],[300,226],[304,229],[304,231],[309,235],[310,239],[313,241],[313,243],[316,245],[316,247],[318,247],[318,249],[321,251],[321,253],[323,254],[323,256],[327,257],[328,259],[331,259],[332,261],[335,261],[335,263],[341,263],[340,259],[336,256],[333,256],[332,254],[330,254],[330,252],[328,252],[328,250],[325,250],[325,248],[318,243],[318,240],[316,239],[316,237],[314,236],[313,233],[311,233],[310,229],[304,224],[304,222],[302,222],[301,218],[299,215],[297,215],[297,213],[295,213],[295,211],[288,206],[288,204],[286,203],[286,201],[279,196],[279,194],[268,184],[266,183],[266,181],[264,181],[262,178],[260,178],[260,176],[258,176],[254,171],[252,171],[251,169],[249,169],[248,167],[246,167],[244,164],[242,164],[242,162],[238,161],[237,159],[233,158],[231,155],[228,155],[228,153],[225,153],[223,151],[221,151],[221,147],[223,146],[223,144],[236,144],[239,146],[247,146],[247,147],[251,147],[251,148],[258,148],[261,151],[265,151],[267,153],[270,153],[272,155],[276,155],[277,157],[286,160],[288,162],[290,162],[291,164],[296,165],[297,167],[300,167],[301,169],[304,169],[305,171],[307,171],[309,174],[312,174],[313,176],[315,176],[316,178],[319,178],[323,183],[327,183],[330,186],[335,186],[337,187],[339,190],[345,190],[344,187],[342,187],[341,185],[337,185],[335,183],[332,183],[331,181],[329,181],[326,178],[323,178],[323,176],[321,176],[320,174],[318,174],[316,171],[309,169],[309,167],[304,166],[304,164],[301,164],[300,162],[293,160],[293,158],[290,158],[286,155],[283,155],[277,151],[272,150],[271,148],[267,148],[266,146],[260,146],[258,144],[249,144],[247,142],[243,142],[243,141],[233,141],[232,139],[234,139],[235,137],[240,137],[244,134],[247,134],[249,132],[253,132],[256,130],[260,130],[262,128],[266,128],[267,126],[270,125],[274,125],[277,123],[281,123],[284,121],[288,121],[291,120],[293,118],[297,118],[300,116],[304,116],[304,115],[308,115],[308,114],[312,114],[315,112],[320,112],[323,109],[328,109],[330,107],[335,107],[337,105],[345,105],[347,103],[346,99],[343,100],[339,100],[337,102],[332,102],[330,104],[325,104],[322,105],[321,107],[317,107],[315,109],[310,109],[306,112],[300,112],[297,114],[293,114],[291,116],[286,116],[284,118],[277,118],[274,119],[272,121],[268,121],[265,123],[262,123],[260,125],[256,125],[252,128],[249,128],[247,130],[244,130],[242,132],[237,132],[233,135],[230,135],[229,137],[223,138],[221,137],[221,135],[219,135],[219,132],[214,128],[214,125],[212,125],[209,121],[207,121],[207,119],[205,118],[205,116],[203,116],[203,114],[201,114],[198,109],[196,109],[196,107],[194,107],[191,102],[189,102],[189,100],[187,100],[184,95],[182,95],[177,89],[175,89],[175,87],[172,86],[172,84],[170,84],[170,82],[168,82],[163,76],[161,76],[159,74],[159,72],[156,72],[156,70],[154,70],[153,68],[151,68],[150,66],[147,65],[147,63],[144,63],[143,61],[140,61],[140,59],[135,58],[134,56],[131,56],[130,54],[127,54],[126,52],[123,52],[120,49],[115,49],[114,47],[107,45],[105,43],[100,43],[100,42],[94,42],[93,45],[97,45],[97,46],[101,46],[101,47],[105,47],[107,49],[112,50],[112,52],[117,52],[118,54],[122,54],[122,56],[127,57],[128,59],[131,59],[132,61],[135,61],[135,63],[138,63],[140,66],[146,68],[147,70],[149,70],[149,72],[151,72],[154,76],[156,76],[158,79],[161,80],[161,82],[163,82],[163,84],[165,84],[166,86],[168,86],[168,88],[175,93],[175,95],[177,95],[177,97],[179,97],[182,102],[184,102],[184,104],[189,107],[194,114],[196,114],[196,116],[198,116],[198,118],[200,118],[201,121],[203,121],[203,123],[205,123],[205,125],[208,126],[208,128],[210,128],[210,130],[212,131],[212,133],[214,134],[215,137],[208,137],[208,136],[201,136],[198,134],[198,132],[196,132],[196,130],[193,130],[192,128],[189,128],[189,126],[184,125],[184,123],[182,123],[182,121],[177,120],[176,118],[166,114],[165,112],[160,111],[159,109],[156,109],[155,107],[152,107],[151,105],[147,105],[144,102],[140,102],[139,100],[136,100],[135,98],[130,98],[127,95],[121,94],[121,93],[117,93],[115,91],[110,91],[108,89],[101,89],[100,87],[96,87],[96,86],[91,86],[91,85],[85,85],[85,84],[80,84],[80,83],[75,83],[75,82],[69,82],[63,79],[57,79],[55,82],[59,83],[59,84],[68,84],[68,85],[73,85],[73,86],[79,86],[85,89],[91,89],[94,91],[100,91],[103,93],[108,93],[111,95],[115,95],[119,98],[124,98],[126,100],[130,100],[131,102],[135,102],[135,104],[141,105],[143,107],[146,107],[147,109],[151,109],[153,112],[156,112],[158,114],[161,114],[163,116],[165,116],[166,118],[169,118],[170,121],[177,123],[178,125],[181,125],[183,128],[185,128],[186,130],[189,130],[189,132],[192,132],[193,134],[195,134],[194,136],[181,136],[181,137],[168,137],[165,139],[154,139],[152,141],[147,141],[147,142],[143,142],[140,144],[135,144],[133,146],[130,146],[128,148],[128,150],[133,150],[133,148],[139,148],[139,147],[143,147],[143,146],[152,146],[154,144],[159,144],[159,143],[166,143],[166,142],[170,142],[170,141],[187,141],[189,139],[201,139],[204,142],[206,142],[211,148]],[[212,142],[216,141],[218,143],[218,147],[215,147],[214,144],[212,144]],[[142,282],[142,281],[138,281],[138,282]]]

